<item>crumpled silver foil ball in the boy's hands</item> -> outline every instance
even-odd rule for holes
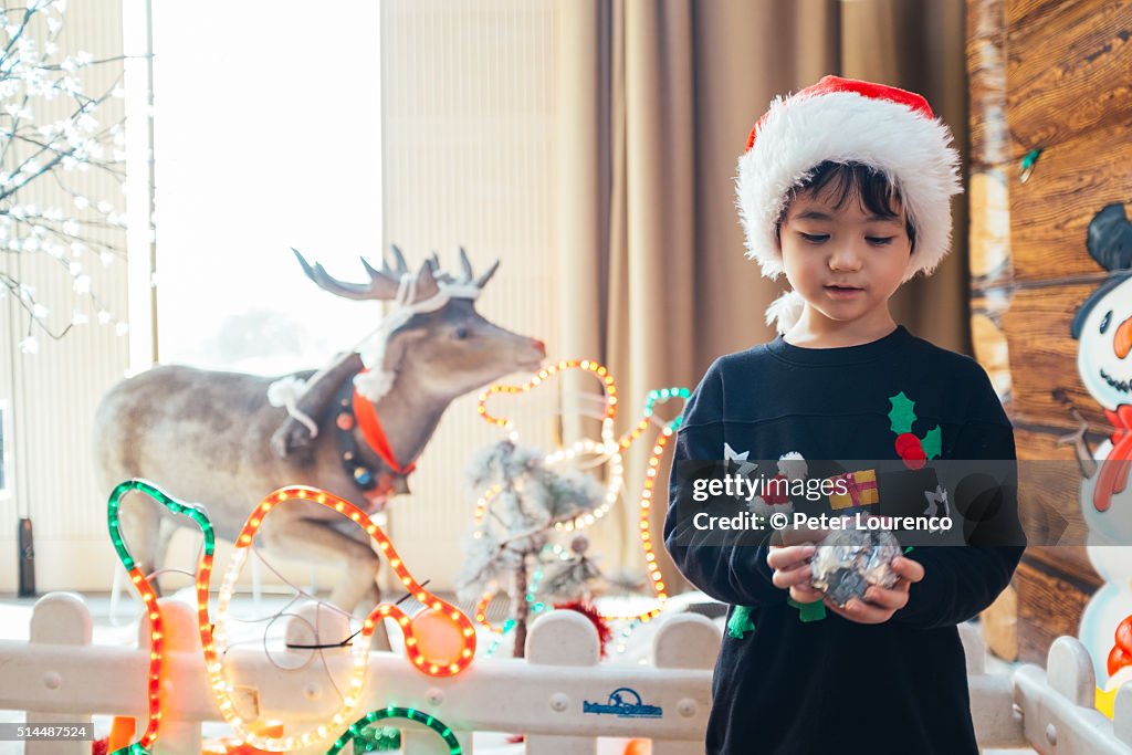
[[[869,585],[897,584],[892,560],[900,554],[900,543],[887,530],[835,531],[822,541],[811,561],[813,585],[844,608],[851,598],[864,600]]]

